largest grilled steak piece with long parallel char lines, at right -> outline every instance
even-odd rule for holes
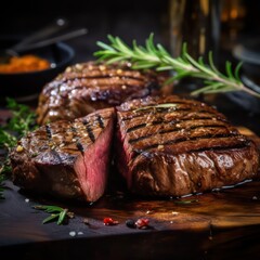
[[[259,177],[259,152],[224,115],[178,96],[117,107],[117,166],[132,193],[182,196]]]

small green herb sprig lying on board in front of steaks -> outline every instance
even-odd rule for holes
[[[68,209],[64,209],[57,206],[36,205],[36,206],[32,206],[32,208],[44,210],[46,212],[51,213],[48,218],[46,218],[42,221],[42,224],[56,220],[56,223],[61,225],[65,222],[67,218],[74,218],[74,213],[69,212]]]

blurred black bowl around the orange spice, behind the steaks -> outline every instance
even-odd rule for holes
[[[0,49],[5,49],[17,42],[17,39],[0,39]],[[0,73],[0,96],[13,98],[18,102],[37,99],[43,86],[64,72],[73,63],[75,51],[64,42],[21,52],[46,58],[51,67],[42,70],[26,73]]]

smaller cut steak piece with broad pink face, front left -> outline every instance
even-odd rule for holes
[[[87,202],[104,193],[115,109],[60,120],[23,138],[11,153],[14,184],[36,193]]]

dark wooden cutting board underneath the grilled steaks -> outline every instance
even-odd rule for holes
[[[239,130],[260,139],[245,128]],[[144,199],[118,191],[93,205],[36,197],[10,181],[0,202],[0,256],[20,259],[259,259],[260,182],[181,199]],[[34,205],[75,212],[66,225],[42,224]],[[117,220],[106,226],[103,219]],[[146,230],[126,220],[147,218]],[[88,222],[87,224],[83,222]]]

